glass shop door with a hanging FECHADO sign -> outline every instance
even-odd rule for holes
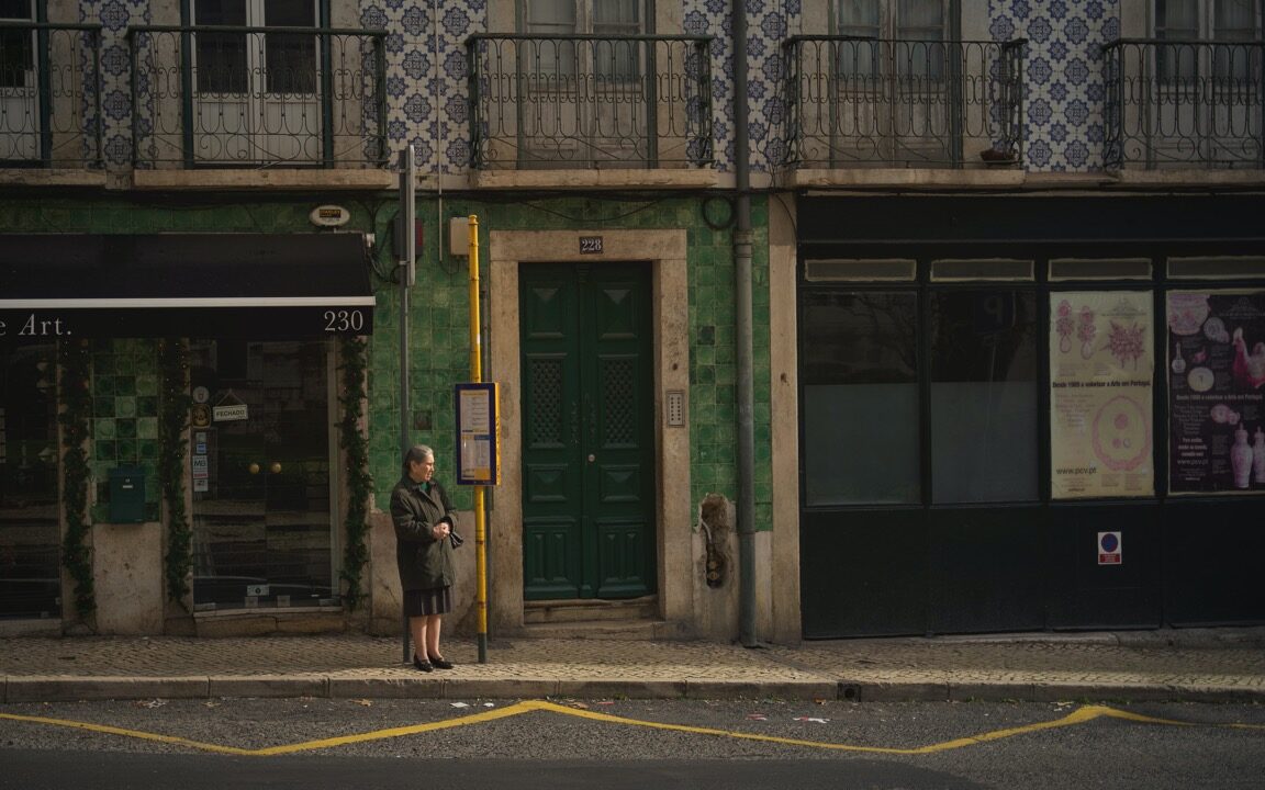
[[[333,604],[329,345],[190,351],[197,609]]]

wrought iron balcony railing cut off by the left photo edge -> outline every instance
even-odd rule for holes
[[[101,166],[101,25],[0,21],[0,167]]]

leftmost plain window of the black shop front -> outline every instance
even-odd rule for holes
[[[805,296],[807,504],[921,501],[917,330],[913,292]]]

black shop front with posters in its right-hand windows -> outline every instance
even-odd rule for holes
[[[1265,621],[1261,196],[798,216],[806,638]]]

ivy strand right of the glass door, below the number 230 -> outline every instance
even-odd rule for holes
[[[362,574],[368,561],[364,537],[368,532],[368,502],[373,493],[373,477],[369,474],[369,442],[361,423],[361,412],[368,397],[366,392],[366,350],[363,337],[344,337],[340,345],[343,386],[339,388],[338,402],[342,408],[339,418],[339,444],[347,463],[347,514],[343,523],[347,541],[343,549],[343,571],[339,574],[347,585],[343,600],[349,609],[355,609],[364,598]]]

